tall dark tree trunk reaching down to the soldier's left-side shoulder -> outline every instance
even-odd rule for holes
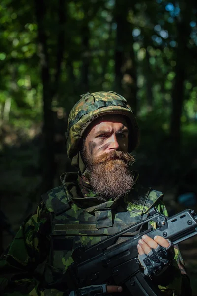
[[[41,148],[42,193],[53,187],[55,157],[54,157],[54,115],[51,110],[52,89],[49,74],[49,57],[47,37],[44,29],[46,7],[44,0],[35,0],[36,17],[38,24],[38,50],[43,84],[43,127]]]

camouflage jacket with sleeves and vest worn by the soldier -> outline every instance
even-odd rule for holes
[[[128,225],[146,218],[151,207],[167,215],[162,193],[144,189],[136,183],[124,199],[103,202],[93,194],[88,182],[74,173],[62,176],[63,186],[43,196],[36,212],[20,227],[0,261],[0,291],[5,296],[67,296],[55,285],[73,262],[71,254],[79,244],[91,245]],[[142,196],[135,205],[132,198]],[[152,226],[156,227],[154,223]],[[124,238],[123,238],[124,239]],[[61,241],[60,241],[61,240]],[[155,283],[162,295],[180,296],[190,291],[181,258],[175,260],[167,275]],[[187,293],[190,295],[190,292]]]

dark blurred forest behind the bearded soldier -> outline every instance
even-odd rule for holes
[[[196,0],[1,0],[0,65],[1,250],[73,171],[67,116],[88,91],[126,97],[141,182],[166,193],[171,213],[196,207],[194,196],[177,203],[197,195]],[[197,240],[181,247],[197,291]]]

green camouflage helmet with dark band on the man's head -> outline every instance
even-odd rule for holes
[[[100,91],[81,95],[80,100],[74,105],[68,117],[66,132],[67,154],[72,160],[80,150],[80,140],[88,125],[99,116],[108,114],[121,114],[128,118],[131,141],[128,152],[139,144],[139,128],[131,107],[121,95],[112,91]]]

